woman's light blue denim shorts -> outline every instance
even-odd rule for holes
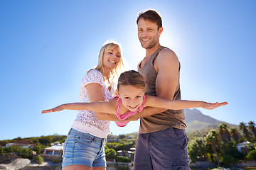
[[[105,138],[71,129],[63,147],[62,166],[105,167]]]

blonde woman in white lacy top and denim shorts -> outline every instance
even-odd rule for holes
[[[124,66],[116,42],[108,42],[99,52],[98,64],[82,79],[80,102],[110,100],[119,72]],[[96,113],[100,114],[100,113]],[[92,111],[79,111],[63,148],[63,169],[106,169],[105,142],[110,134],[110,121],[98,120]]]

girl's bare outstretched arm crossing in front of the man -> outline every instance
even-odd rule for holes
[[[206,108],[212,110],[220,106],[227,105],[227,102],[208,103],[205,101],[185,101],[185,100],[167,100],[156,96],[146,96],[146,105],[156,108],[168,108],[171,110],[180,110],[185,108]]]

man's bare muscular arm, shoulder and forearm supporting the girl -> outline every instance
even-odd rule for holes
[[[154,68],[158,72],[156,77],[156,96],[172,100],[178,84],[179,62],[176,54],[169,49],[163,49],[154,60]],[[166,111],[165,108],[146,107],[142,112],[132,115],[127,121],[138,120],[156,113]]]

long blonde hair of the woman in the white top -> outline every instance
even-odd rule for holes
[[[119,57],[119,63],[117,63],[117,67],[112,69],[112,71],[110,72],[110,76],[109,77],[105,77],[105,72],[103,69],[103,56],[105,51],[107,50],[113,50],[115,47],[117,47],[119,49],[120,52],[120,57]],[[114,42],[114,41],[107,41],[105,42],[105,44],[102,46],[102,48],[100,49],[99,55],[98,55],[98,64],[95,67],[95,69],[99,70],[102,75],[105,77],[105,79],[107,79],[108,81],[112,81],[112,79],[114,79],[114,77],[118,77],[119,73],[122,71],[122,69],[124,68],[124,62],[122,61],[122,48],[121,45],[119,45],[119,43]]]

